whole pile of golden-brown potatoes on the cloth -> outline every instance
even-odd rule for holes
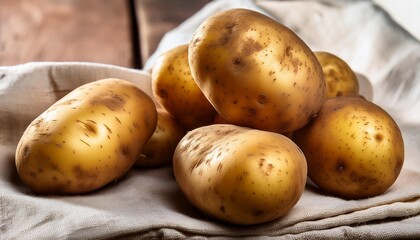
[[[230,223],[287,214],[307,177],[320,194],[384,193],[404,162],[398,125],[359,96],[352,69],[246,9],[217,13],[153,67],[152,99],[119,79],[89,83],[28,127],[16,152],[37,193],[85,193],[132,166],[172,165],[202,212]]]

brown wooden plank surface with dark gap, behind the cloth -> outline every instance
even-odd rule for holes
[[[0,66],[87,61],[142,68],[210,0],[0,0]]]

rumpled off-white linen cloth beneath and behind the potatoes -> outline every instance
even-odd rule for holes
[[[132,169],[118,182],[79,196],[39,196],[20,182],[14,151],[33,118],[77,86],[101,78],[127,79],[151,94],[148,71],[156,57],[188,42],[211,14],[233,7],[272,16],[313,50],[337,54],[369,80],[372,101],[395,118],[405,141],[403,169],[387,192],[343,200],[308,185],[285,217],[241,227],[196,210],[169,167]],[[419,69],[418,40],[370,1],[251,0],[209,3],[166,34],[144,71],[94,63],[0,67],[0,239],[419,239]]]

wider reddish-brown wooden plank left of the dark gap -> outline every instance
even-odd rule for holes
[[[87,61],[132,66],[128,1],[0,0],[0,65]]]

